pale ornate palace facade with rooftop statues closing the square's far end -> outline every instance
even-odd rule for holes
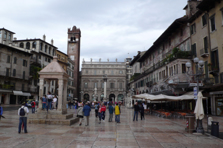
[[[126,62],[84,61],[81,70],[81,100],[124,101],[126,96]],[[104,77],[106,75],[106,96],[104,96]]]

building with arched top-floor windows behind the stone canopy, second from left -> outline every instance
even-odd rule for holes
[[[24,50],[30,51],[32,56],[30,58],[30,77],[29,77],[29,90],[31,92],[31,97],[34,99],[39,98],[39,78],[37,72],[48,65],[53,56],[56,55],[57,47],[53,45],[53,39],[51,43],[46,42],[46,36],[43,35],[43,39],[23,39],[17,40],[14,38],[13,43],[16,47],[22,48]],[[55,93],[55,81],[50,84],[44,82],[44,94],[48,91]]]

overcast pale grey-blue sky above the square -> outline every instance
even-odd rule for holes
[[[167,27],[185,15],[187,0],[8,0],[1,23],[17,39],[42,38],[67,53],[67,29],[81,29],[81,61],[123,62],[147,50]]]

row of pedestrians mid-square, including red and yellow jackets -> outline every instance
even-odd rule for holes
[[[79,118],[79,126],[82,125],[82,120],[85,118],[85,126],[89,125],[89,116],[91,112],[91,103],[87,102],[85,106],[81,104],[80,107],[77,110],[77,117]],[[109,103],[108,106],[109,110],[109,118],[108,122],[112,122],[113,114],[115,114],[115,122],[120,123],[120,114],[121,114],[121,109],[118,104],[113,107],[112,103]],[[105,114],[106,114],[106,106],[104,103],[97,102],[95,104],[95,117],[96,119],[99,118],[99,124],[102,122],[105,122]]]

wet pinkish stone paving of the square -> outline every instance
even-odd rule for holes
[[[145,120],[133,122],[132,114],[132,109],[123,107],[121,123],[108,122],[107,112],[106,121],[98,124],[92,110],[87,127],[78,123],[72,126],[28,124],[28,134],[18,134],[17,111],[5,111],[6,119],[0,121],[0,148],[223,147],[221,139],[186,133],[183,119],[169,120],[146,115]]]

